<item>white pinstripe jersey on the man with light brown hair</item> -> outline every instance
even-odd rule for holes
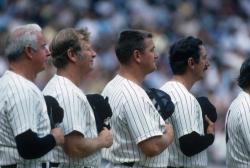
[[[69,79],[54,75],[43,90],[44,95],[51,95],[57,99],[64,109],[63,123],[60,125],[64,134],[78,131],[86,138],[96,138],[97,130],[92,108],[83,91]],[[96,152],[82,159],[68,157],[61,147],[53,151],[54,162],[65,163],[64,167],[99,166],[101,152]]]

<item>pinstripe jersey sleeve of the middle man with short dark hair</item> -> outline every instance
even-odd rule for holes
[[[132,139],[136,143],[150,137],[163,135],[165,131],[165,122],[161,119],[151,101],[145,97],[145,94],[130,90],[124,97],[125,118]]]

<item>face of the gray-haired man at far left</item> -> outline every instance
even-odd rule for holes
[[[45,64],[50,56],[50,52],[46,47],[46,42],[44,36],[41,32],[37,33],[37,49],[34,50],[33,65],[36,69],[36,72],[44,70]]]

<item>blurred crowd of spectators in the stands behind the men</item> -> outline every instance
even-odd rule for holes
[[[88,27],[98,55],[95,70],[82,84],[86,93],[100,92],[116,73],[114,42],[123,29],[154,34],[158,70],[147,76],[145,87],[158,88],[171,78],[168,50],[175,40],[188,35],[201,38],[210,67],[192,92],[208,96],[217,108],[216,140],[209,159],[211,164],[225,162],[225,114],[239,92],[241,63],[250,54],[249,0],[0,0],[0,76],[8,67],[4,58],[7,33],[16,25],[34,22],[43,27],[48,43],[62,28]],[[49,62],[36,84],[43,89],[54,72]]]

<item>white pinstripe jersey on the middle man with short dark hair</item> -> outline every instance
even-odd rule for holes
[[[147,157],[137,146],[153,136],[163,135],[165,122],[146,92],[137,84],[117,75],[104,88],[113,112],[113,145],[103,149],[104,158],[112,163],[137,162],[134,167],[167,167],[168,151]],[[136,166],[140,165],[140,166]]]

